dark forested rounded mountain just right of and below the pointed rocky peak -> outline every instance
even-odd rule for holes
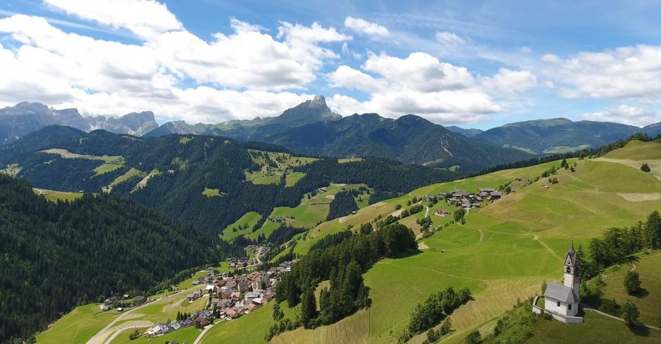
[[[266,140],[306,154],[379,156],[438,167],[459,165],[464,172],[532,157],[466,138],[415,115],[393,120],[377,114],[355,114],[291,128]]]

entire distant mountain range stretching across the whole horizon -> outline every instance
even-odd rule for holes
[[[169,134],[225,136],[242,141],[280,144],[306,155],[385,157],[432,167],[461,166],[474,172],[495,164],[600,147],[632,133],[661,133],[661,123],[635,127],[614,122],[573,122],[567,118],[514,122],[487,131],[443,127],[415,115],[397,119],[378,114],[342,117],[324,96],[286,109],[280,116],[231,120],[218,124],[167,122],[158,126],[151,111],[119,118],[83,117],[77,109],[56,110],[39,103],[0,109],[0,142],[10,143],[46,125],[67,125],[81,131],[157,137]]]

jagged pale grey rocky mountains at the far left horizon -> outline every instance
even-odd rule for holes
[[[48,125],[66,125],[82,131],[104,129],[138,136],[158,127],[151,111],[133,112],[119,118],[83,117],[78,109],[56,110],[41,103],[23,102],[0,109],[0,144],[14,142]]]

